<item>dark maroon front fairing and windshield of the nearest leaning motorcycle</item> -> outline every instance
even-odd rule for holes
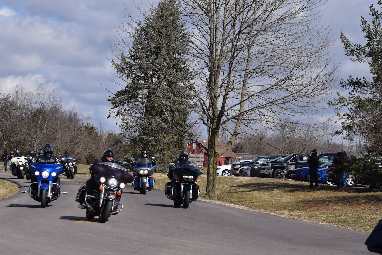
[[[114,177],[118,179],[119,182],[123,182],[125,184],[134,180],[133,175],[126,172],[123,166],[112,162],[92,164],[90,166],[90,171],[97,174],[97,178],[105,177],[106,179],[110,179],[111,177]]]

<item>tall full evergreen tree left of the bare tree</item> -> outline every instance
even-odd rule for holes
[[[141,14],[144,22],[136,23],[132,44],[122,36],[113,43],[112,66],[125,84],[108,99],[113,106],[110,115],[121,120],[128,146],[171,159],[184,149],[183,137],[189,130],[193,79],[185,57],[189,35],[173,0],[163,0]],[[126,27],[122,31],[129,33]]]

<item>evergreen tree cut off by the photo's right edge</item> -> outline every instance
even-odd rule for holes
[[[382,7],[381,0],[377,1]],[[342,88],[349,91],[349,96],[341,96],[329,102],[337,115],[342,120],[342,129],[337,134],[344,138],[353,139],[354,136],[363,138],[366,148],[369,150],[382,149],[382,29],[380,24],[381,13],[373,5],[370,6],[372,16],[368,23],[361,16],[361,32],[367,42],[365,45],[353,44],[350,39],[341,32],[340,38],[347,56],[352,62],[367,63],[372,75],[369,80],[354,78],[352,75],[347,80],[341,80]],[[342,108],[348,111],[340,113]]]

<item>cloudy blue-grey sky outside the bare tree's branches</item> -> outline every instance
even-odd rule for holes
[[[135,1],[138,3],[138,0]],[[352,42],[364,43],[361,15],[369,19],[376,0],[328,0],[323,22],[330,24],[336,43],[333,53],[342,63],[340,78],[367,76],[367,66],[351,63],[343,54],[340,31]],[[92,123],[118,131],[107,119],[108,92],[114,70],[108,40],[124,21],[125,7],[136,12],[132,0],[0,0],[0,93],[16,85],[32,90],[36,80],[55,86],[65,106],[74,106]]]

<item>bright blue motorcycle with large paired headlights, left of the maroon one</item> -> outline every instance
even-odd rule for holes
[[[29,164],[31,184],[29,184],[28,190],[21,192],[28,192],[31,198],[41,203],[41,208],[45,208],[48,203],[60,197],[60,193],[68,193],[61,191],[58,176],[62,174],[63,167],[57,158],[39,156],[32,162],[33,159],[28,157],[28,161],[31,162]]]

